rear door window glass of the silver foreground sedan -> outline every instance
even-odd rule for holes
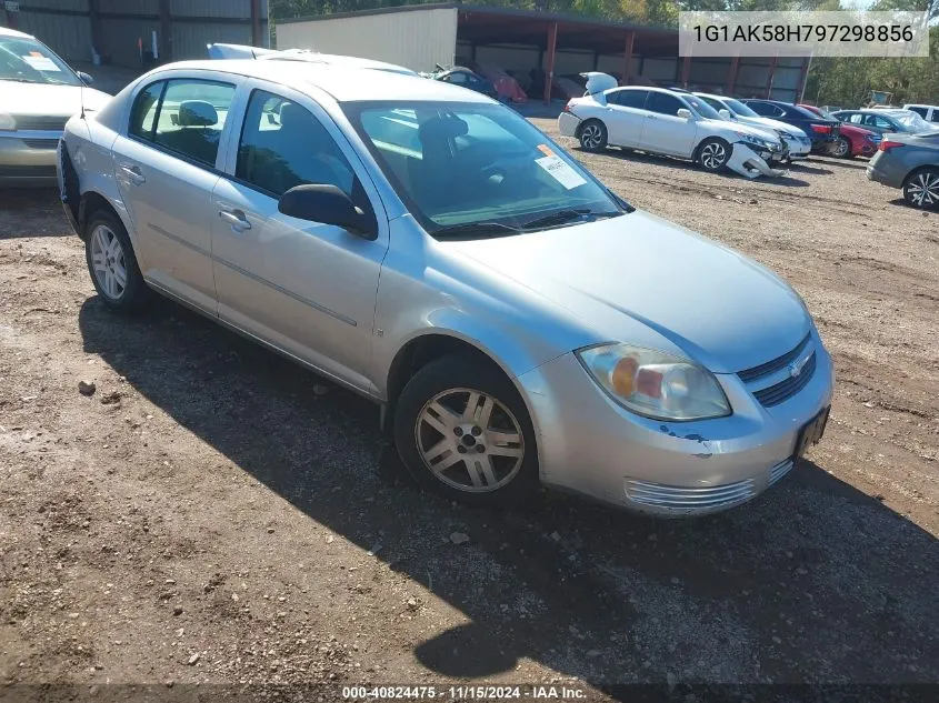
[[[234,86],[230,83],[190,79],[167,81],[156,112],[156,124],[148,133],[149,109],[144,111],[141,106],[142,131],[132,133],[181,157],[214,167],[233,97]]]

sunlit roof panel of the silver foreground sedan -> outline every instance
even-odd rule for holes
[[[362,68],[308,63],[306,61],[179,61],[148,74],[158,78],[167,70],[200,70],[258,78],[308,92],[310,87],[326,91],[338,102],[362,100],[418,100],[452,102],[492,102],[477,92],[416,76]]]

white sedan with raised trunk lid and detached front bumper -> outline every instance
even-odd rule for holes
[[[690,159],[707,171],[728,168],[747,178],[782,174],[770,165],[787,157],[775,133],[729,122],[688,91],[590,88],[558,118],[561,134],[579,140],[587,151],[622,147]]]

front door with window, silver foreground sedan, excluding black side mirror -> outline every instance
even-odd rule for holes
[[[241,129],[214,188],[219,317],[359,390],[367,378],[388,220],[364,167],[309,97],[249,81]],[[300,220],[278,199],[303,183],[338,187],[378,221],[373,241]]]

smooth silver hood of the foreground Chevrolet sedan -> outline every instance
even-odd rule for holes
[[[811,327],[776,274],[640,211],[447,244],[567,309],[599,340],[677,349],[718,373],[776,359]]]

